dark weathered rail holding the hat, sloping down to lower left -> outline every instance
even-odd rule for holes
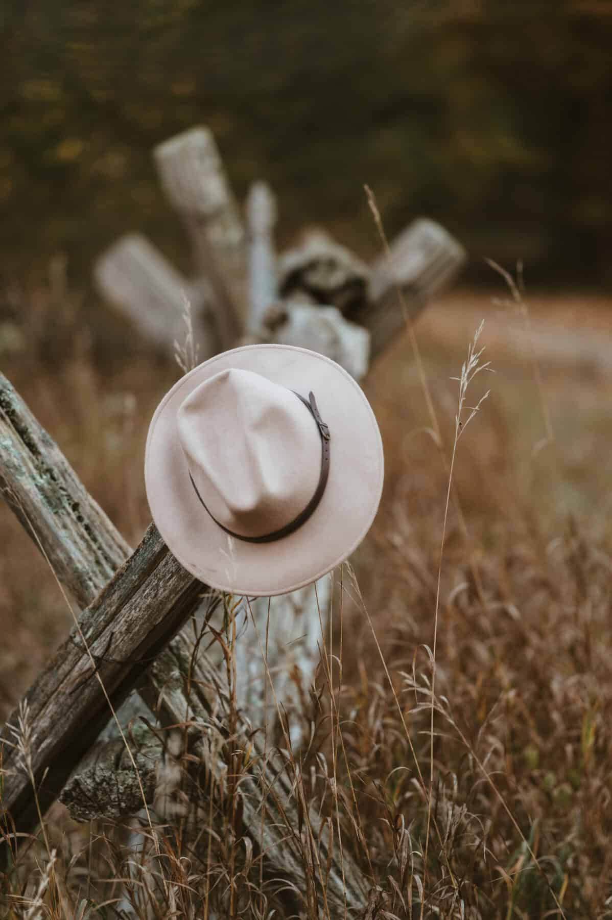
[[[58,551],[57,555],[61,555]],[[139,684],[155,655],[192,614],[205,589],[170,554],[153,524],[140,546],[79,618],[85,643],[113,707]],[[32,765],[46,811],[111,715],[92,661],[74,629],[25,696],[32,726]],[[2,732],[3,811],[17,831],[37,823],[29,777],[13,746],[13,713]]]

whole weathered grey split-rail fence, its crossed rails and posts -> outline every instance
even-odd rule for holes
[[[192,357],[196,342],[205,359],[245,341],[279,341],[322,351],[359,379],[406,321],[398,292],[414,319],[465,258],[459,244],[429,220],[407,227],[391,252],[370,266],[321,231],[305,234],[278,257],[271,191],[255,183],[244,226],[206,128],[161,144],[154,157],[193,247],[193,278],[181,276],[139,235],[123,237],[98,259],[95,276],[100,291],[142,337],[169,352],[185,339],[188,304]],[[297,768],[256,730],[266,716],[266,669],[257,639],[266,629],[267,604],[243,608],[244,635],[235,644],[242,680],[236,714],[217,647],[213,643],[205,653],[201,642],[227,598],[182,569],[153,524],[132,551],[2,375],[0,489],[80,609],[78,627],[0,732],[5,858],[39,822],[32,783],[15,746],[24,704],[40,808],[44,813],[60,798],[77,820],[134,814],[142,808],[142,794],[152,803],[159,763],[170,756],[165,727],[184,725],[189,753],[206,765],[214,788],[227,788],[232,764],[243,765],[234,793],[244,834],[266,871],[288,880],[303,903],[312,904],[314,915],[363,911],[368,891],[361,873],[346,852],[341,861],[337,846],[323,834]],[[327,578],[275,599],[267,665],[282,707],[289,709],[312,681],[320,614],[324,617],[331,590]],[[109,704],[119,711],[127,745],[109,722]],[[285,746],[299,752],[301,731],[277,729]],[[309,865],[302,857],[304,843],[312,853]],[[316,883],[317,866],[325,867],[324,886]]]

